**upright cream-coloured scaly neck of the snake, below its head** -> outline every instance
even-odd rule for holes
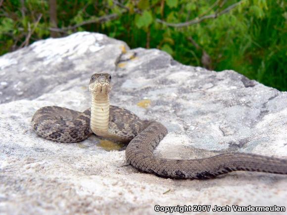
[[[91,129],[98,136],[108,134],[109,95],[92,93]]]

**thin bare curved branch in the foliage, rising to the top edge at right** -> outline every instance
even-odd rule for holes
[[[197,24],[202,22],[205,19],[212,19],[212,18],[217,18],[219,16],[221,16],[222,14],[225,14],[227,12],[229,12],[230,10],[232,10],[233,8],[235,8],[236,6],[238,6],[240,3],[242,2],[242,0],[240,0],[239,2],[230,5],[229,7],[225,8],[224,10],[218,12],[218,13],[214,13],[214,14],[210,14],[210,15],[206,15],[206,16],[202,16],[202,17],[196,17],[193,20],[187,21],[187,22],[182,22],[182,23],[168,23],[166,21],[163,21],[161,19],[156,19],[157,22],[165,24],[166,26],[170,26],[170,27],[175,27],[175,28],[182,28],[182,27],[187,27],[193,24]]]

